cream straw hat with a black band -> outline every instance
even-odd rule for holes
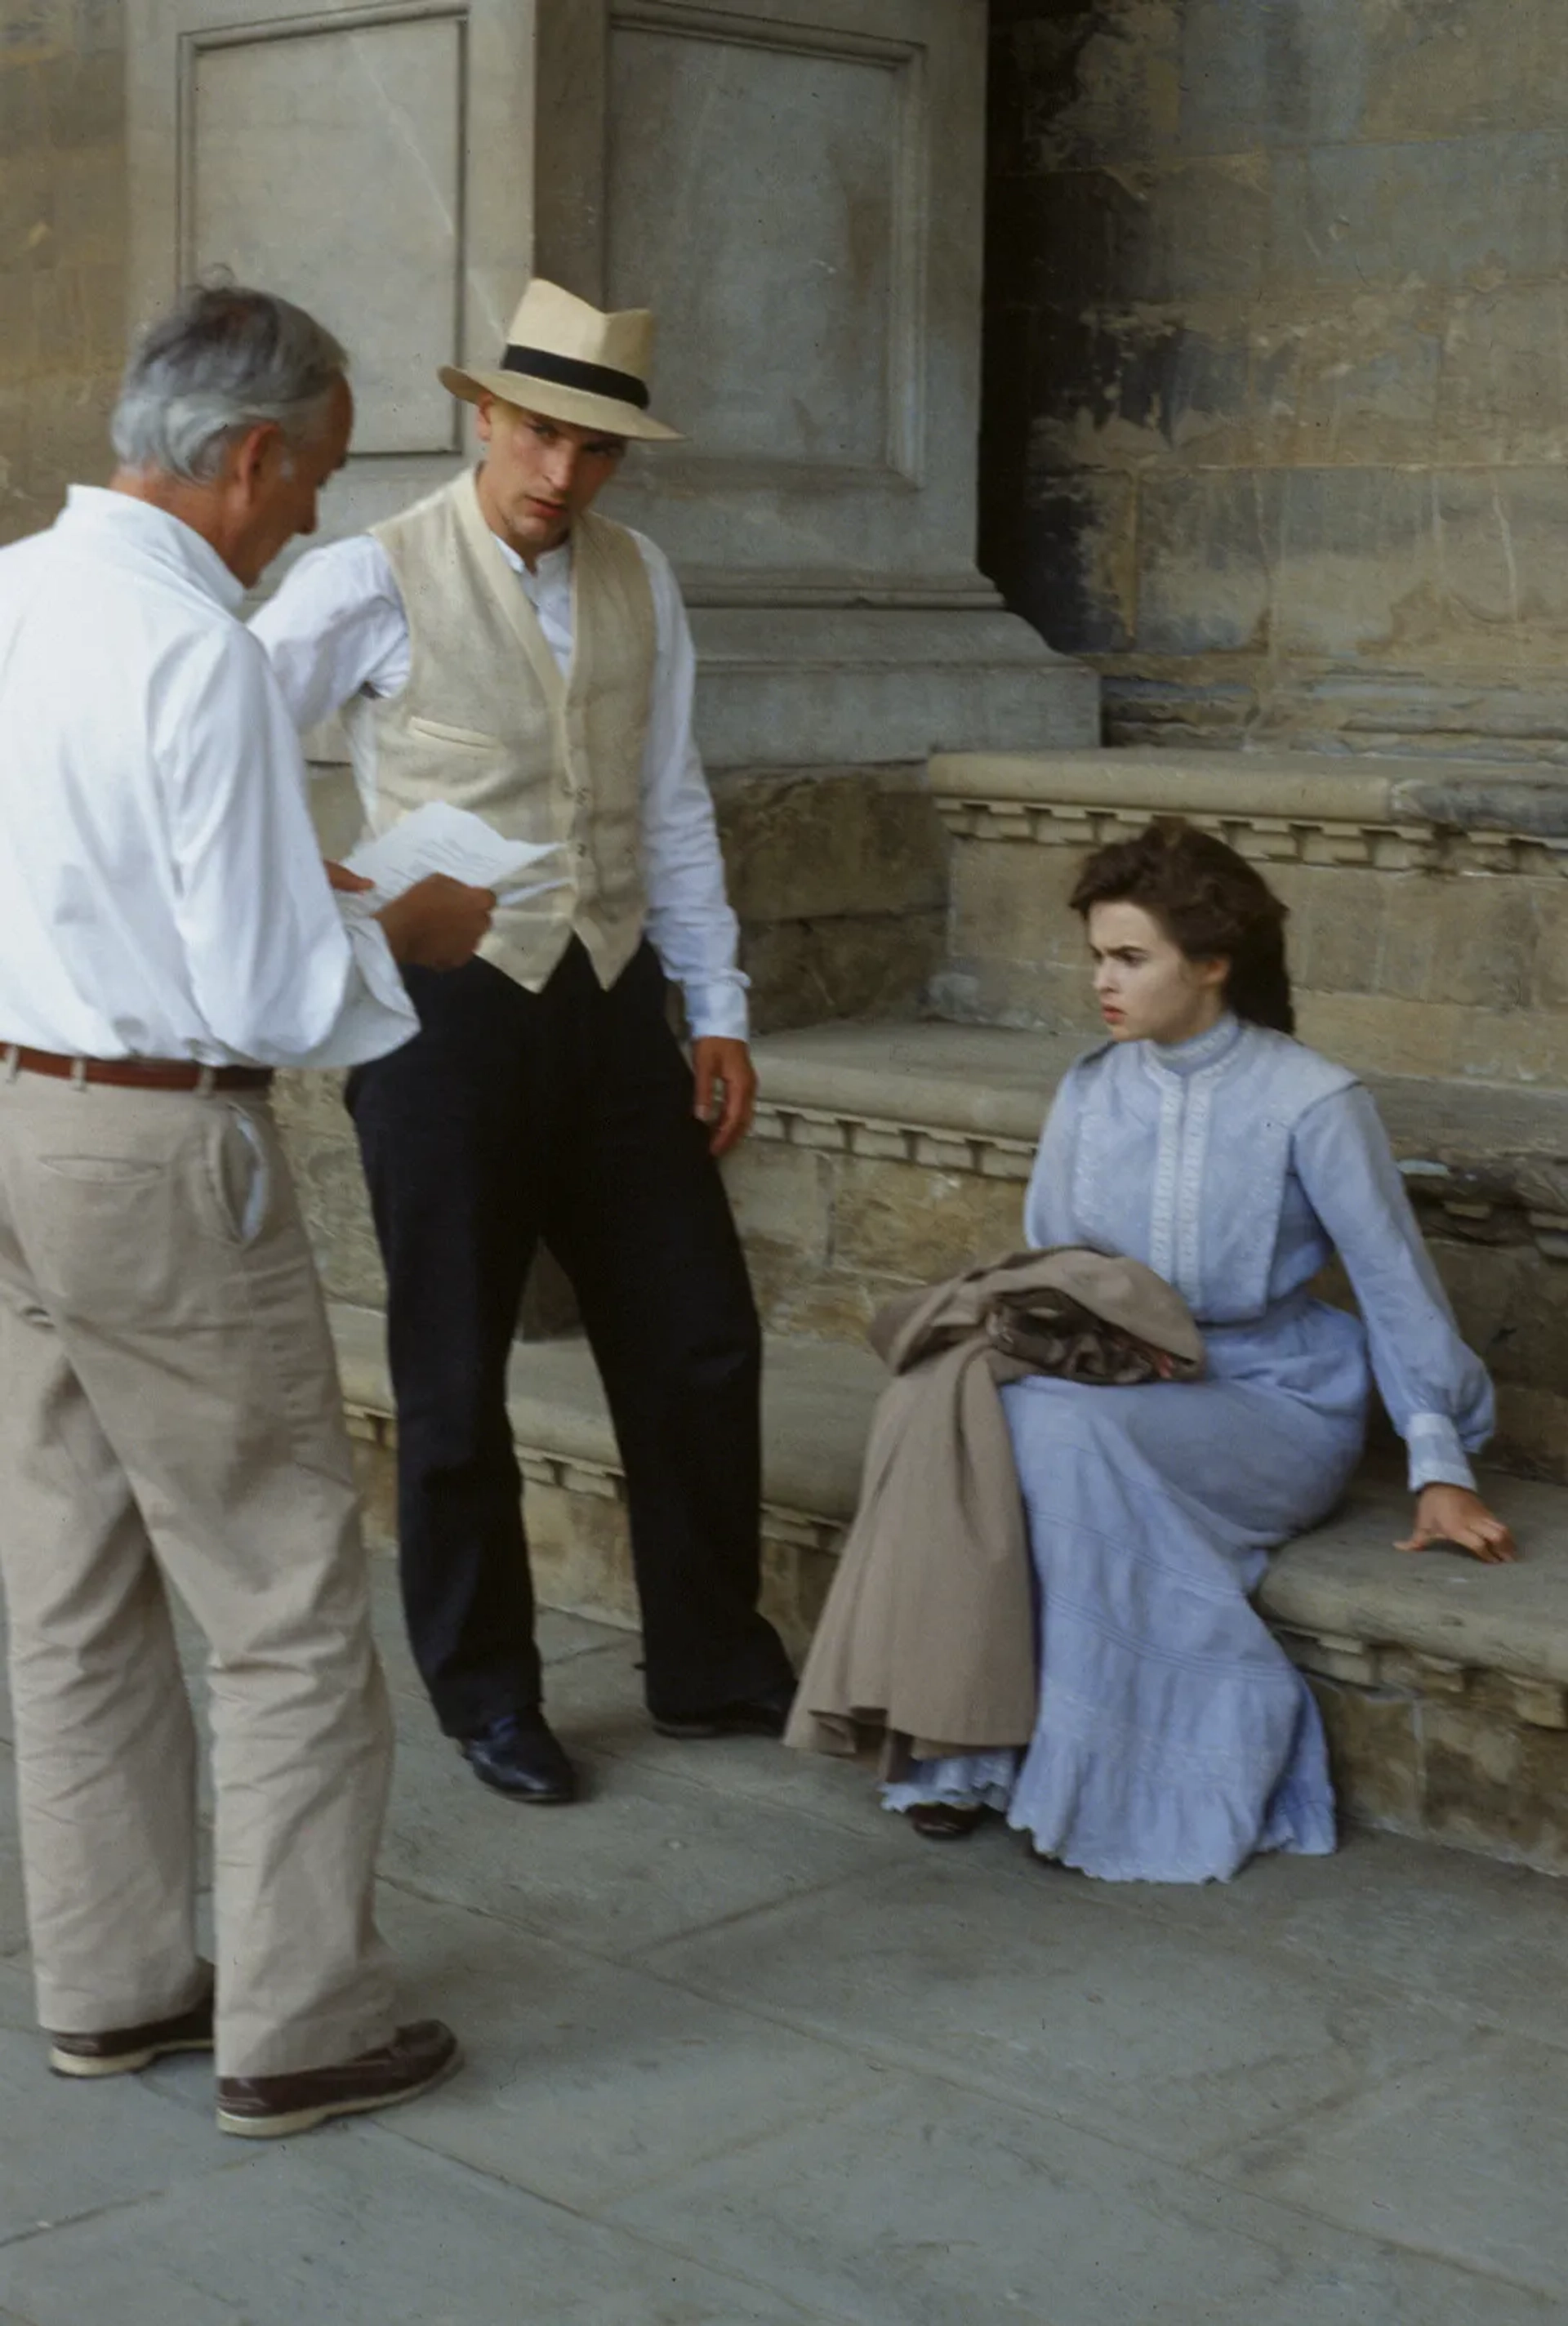
[[[600,314],[535,274],[512,316],[500,370],[465,372],[444,363],[440,381],[470,405],[482,395],[500,395],[523,412],[542,412],[577,428],[679,442],[679,428],[649,419],[651,354],[654,316],[647,307]]]

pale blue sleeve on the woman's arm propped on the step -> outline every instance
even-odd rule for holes
[[[1345,1261],[1410,1486],[1475,1486],[1468,1456],[1494,1430],[1491,1379],[1459,1337],[1370,1093],[1356,1084],[1310,1107],[1293,1165]]]

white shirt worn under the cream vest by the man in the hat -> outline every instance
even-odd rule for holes
[[[693,1037],[747,1037],[747,979],[735,968],[737,923],[724,893],[714,802],[691,735],[696,654],[670,561],[633,533],[654,591],[656,658],[642,749],[642,879],[647,933],[686,996]],[[572,547],[530,570],[498,537],[561,672],[572,661]],[[312,549],[286,575],[251,628],[300,728],[328,719],[351,695],[395,695],[409,679],[409,623],[386,551],[370,533]],[[354,735],[354,782],[375,814],[375,737]]]

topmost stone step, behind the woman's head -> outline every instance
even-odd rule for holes
[[[1312,751],[931,761],[954,835],[942,1016],[1096,1030],[1082,854],[1179,812],[1291,907],[1305,1040],[1398,1075],[1568,1082],[1568,777]],[[1000,844],[998,844],[1000,842]]]

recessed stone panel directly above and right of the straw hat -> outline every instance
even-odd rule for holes
[[[614,23],[610,300],[698,461],[893,465],[900,65]]]

